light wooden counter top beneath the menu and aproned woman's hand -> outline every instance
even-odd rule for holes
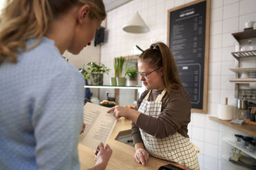
[[[134,160],[134,153],[135,153],[134,147],[131,147],[130,145],[127,145],[125,143],[121,143],[115,140],[118,133],[125,130],[131,130],[131,121],[128,121],[127,119],[119,119],[118,122],[116,123],[116,127],[114,127],[114,131],[112,132],[109,138],[108,144],[113,150],[113,154],[111,155],[111,158],[109,160],[109,163],[106,169],[108,170],[122,170],[122,169],[124,170],[127,170],[127,169],[157,170],[160,166],[167,165],[170,163],[165,160],[160,160],[158,158],[153,158],[152,156],[149,156],[147,165],[138,164]],[[88,169],[89,167],[92,167],[94,165],[94,149],[91,149],[91,148],[85,147],[84,145],[79,144],[78,154],[79,154],[79,160],[81,163],[81,170]]]

